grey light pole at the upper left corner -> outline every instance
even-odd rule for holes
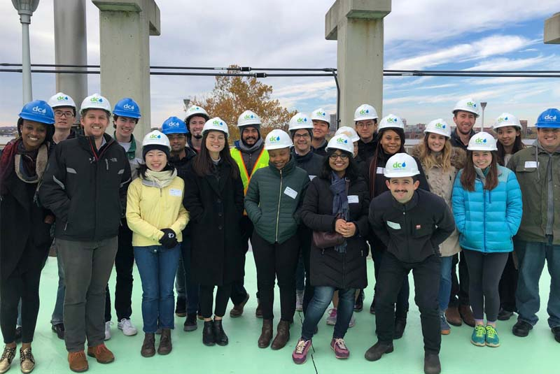
[[[23,103],[33,99],[31,88],[31,52],[29,52],[29,24],[31,15],[39,5],[39,0],[12,0],[15,10],[18,10],[22,24],[22,81]]]

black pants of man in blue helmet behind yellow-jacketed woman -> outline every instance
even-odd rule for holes
[[[117,284],[115,287],[115,310],[117,318],[130,319],[132,315],[132,269],[134,268],[134,248],[132,247],[132,230],[126,220],[121,220],[118,229],[118,250],[115,257]],[[109,285],[105,292],[105,322],[111,321],[111,292]]]

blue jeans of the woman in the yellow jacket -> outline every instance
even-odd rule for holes
[[[142,280],[142,319],[145,333],[155,333],[158,327],[175,327],[173,283],[180,256],[181,245],[170,250],[161,245],[134,247],[134,259]]]

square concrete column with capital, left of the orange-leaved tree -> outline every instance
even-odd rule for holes
[[[123,97],[139,103],[134,136],[141,141],[151,127],[149,36],[160,35],[160,9],[154,0],[92,2],[99,8],[101,94],[113,106]]]

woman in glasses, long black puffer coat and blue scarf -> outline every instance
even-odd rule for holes
[[[367,287],[365,259],[369,231],[367,213],[370,196],[365,180],[360,177],[353,159],[353,144],[344,134],[330,139],[327,157],[318,178],[314,178],[305,194],[302,220],[309,229],[338,233],[336,243],[311,245],[311,285],[314,296],[309,302],[292,359],[303,364],[307,359],[311,338],[318,322],[338,291],[338,309],[330,347],[337,359],[346,359],[350,352],[344,342],[353,314],[356,289]]]

